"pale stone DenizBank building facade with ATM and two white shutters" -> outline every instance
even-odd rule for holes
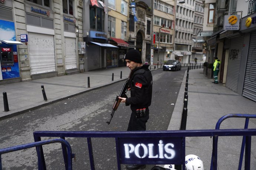
[[[6,26],[0,30],[0,40],[23,43],[10,50],[13,63],[9,66],[14,68],[2,69],[9,76],[1,84],[80,72],[77,49],[78,41],[82,41],[81,0],[3,1],[0,8],[8,14],[0,18],[1,25]]]

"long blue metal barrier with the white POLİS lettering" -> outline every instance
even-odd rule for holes
[[[88,141],[89,158],[91,170],[95,170],[92,137],[115,138],[116,157],[118,170],[121,170],[121,164],[182,164],[185,170],[185,138],[202,136],[256,136],[256,129],[212,129],[212,130],[166,130],[166,131],[129,131],[129,132],[83,132],[83,131],[36,131],[34,132],[35,141],[41,140],[41,137],[86,137]],[[247,152],[250,154],[251,141],[246,142]],[[154,147],[157,146],[157,147]],[[159,147],[158,147],[159,146]],[[176,147],[177,146],[177,147]],[[135,153],[139,148],[144,149],[142,153]],[[159,149],[159,152],[157,152]],[[165,152],[161,152],[164,150]],[[166,150],[165,150],[166,149]],[[215,148],[214,148],[215,150]],[[153,153],[158,153],[154,155]],[[40,158],[43,159],[43,149],[40,148]],[[137,155],[137,157],[135,156]],[[214,152],[212,157],[217,157]],[[249,158],[249,156],[247,156]],[[64,158],[65,159],[65,158]],[[217,160],[217,159],[216,159]],[[250,160],[248,160],[250,162]],[[217,162],[213,162],[217,170]]]

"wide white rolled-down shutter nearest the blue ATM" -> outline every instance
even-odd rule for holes
[[[31,74],[56,71],[54,36],[28,33]]]

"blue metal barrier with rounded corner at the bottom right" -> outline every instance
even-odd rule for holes
[[[244,129],[248,129],[249,125],[249,118],[256,118],[256,115],[251,114],[228,114],[222,116],[218,122],[216,123],[215,129],[220,129],[220,124],[223,122],[223,120],[227,118],[246,118],[244,123]],[[239,164],[238,164],[238,170],[242,169],[242,163],[243,163],[243,154],[244,154],[244,147],[245,148],[245,162],[244,162],[244,169],[250,169],[250,144],[251,144],[251,136],[253,135],[243,135],[242,140],[242,146],[240,151],[240,158],[239,158]],[[217,149],[218,149],[218,136],[213,136],[213,151],[212,151],[212,157],[211,157],[211,169],[217,169]],[[249,153],[248,153],[249,152]],[[215,155],[215,156],[213,156]]]

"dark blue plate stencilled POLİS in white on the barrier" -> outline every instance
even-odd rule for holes
[[[122,164],[182,164],[183,146],[182,137],[119,138],[117,153]]]

